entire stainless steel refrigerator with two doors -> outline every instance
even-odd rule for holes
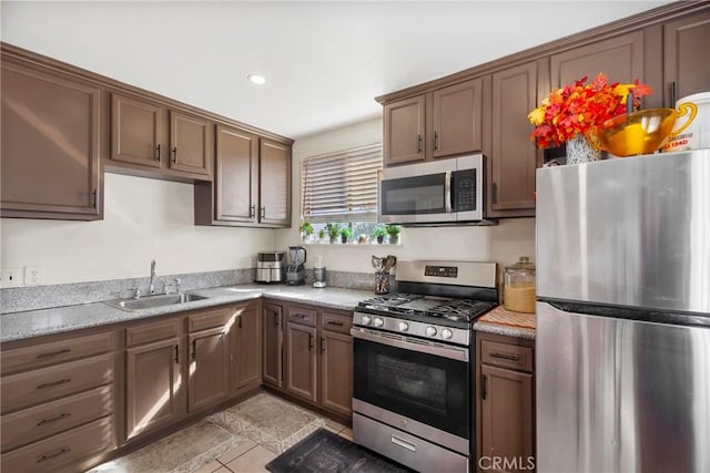
[[[710,150],[537,172],[537,471],[710,472]]]

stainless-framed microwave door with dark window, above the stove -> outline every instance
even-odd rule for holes
[[[455,171],[456,160],[381,169],[377,220],[397,224],[455,222],[452,206]]]

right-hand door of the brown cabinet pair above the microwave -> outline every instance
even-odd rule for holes
[[[481,148],[483,80],[474,79],[433,93],[432,156]]]

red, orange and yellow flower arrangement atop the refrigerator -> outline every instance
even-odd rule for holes
[[[528,114],[535,125],[530,140],[538,147],[560,146],[579,133],[586,135],[594,126],[626,113],[626,100],[633,92],[633,109],[641,104],[640,97],[649,95],[651,88],[639,83],[609,83],[606,74],[600,73],[585,85],[587,78],[575,81],[574,85],[552,91],[542,100],[542,104]]]

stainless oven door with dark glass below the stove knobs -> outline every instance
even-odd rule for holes
[[[353,405],[367,408],[365,415],[387,422],[387,413],[399,414],[398,423],[434,428],[454,435],[468,449],[470,438],[470,366],[468,348],[415,341],[400,335],[354,328]],[[426,343],[426,345],[425,345]],[[402,420],[399,417],[406,418]],[[414,422],[409,422],[409,420]],[[394,425],[414,434],[403,425]],[[430,438],[429,438],[430,439]],[[447,441],[437,442],[447,445]],[[450,445],[449,448],[453,448]],[[458,450],[458,448],[456,449]],[[467,450],[466,450],[467,451]]]

